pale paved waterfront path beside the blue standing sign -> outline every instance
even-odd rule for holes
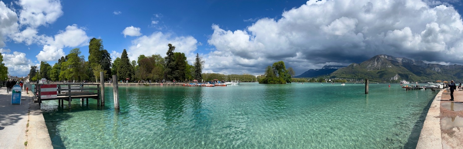
[[[22,92],[20,105],[11,105],[11,93],[0,88],[0,149],[27,148],[53,148],[42,111],[30,91]]]

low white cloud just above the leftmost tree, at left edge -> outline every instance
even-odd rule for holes
[[[1,49],[3,63],[8,67],[8,72],[13,76],[24,76],[31,69],[32,61],[26,58],[26,54],[22,52],[11,52],[10,49]]]

